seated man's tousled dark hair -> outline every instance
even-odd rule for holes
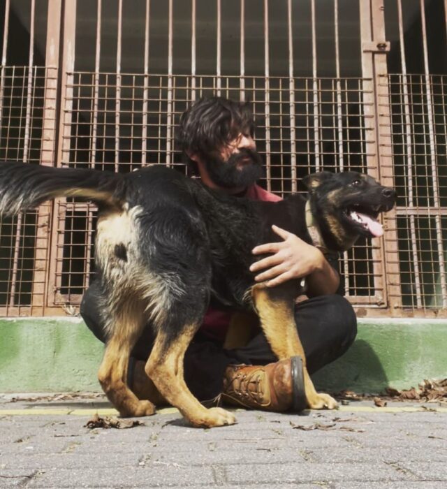
[[[247,102],[235,102],[223,97],[200,98],[180,117],[176,140],[189,168],[197,173],[196,163],[186,152],[204,159],[228,145],[240,133],[253,136],[253,113]]]

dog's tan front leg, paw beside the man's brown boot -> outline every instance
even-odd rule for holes
[[[254,286],[252,298],[273,353],[282,360],[300,356],[304,365],[307,406],[311,409],[335,409],[338,404],[328,394],[317,393],[307,372],[305,351],[295,323],[294,301],[284,289],[269,289],[262,284]]]

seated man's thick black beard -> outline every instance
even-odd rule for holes
[[[238,163],[241,163],[239,168]],[[219,156],[214,158],[209,156],[206,159],[210,179],[224,189],[249,187],[255,184],[263,176],[262,165],[261,155],[248,148],[240,149],[240,152],[232,154],[226,161]]]

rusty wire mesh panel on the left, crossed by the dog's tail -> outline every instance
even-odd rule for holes
[[[52,106],[54,119],[55,92],[49,87],[55,80],[51,68],[0,66],[0,160],[41,162],[45,103]],[[46,137],[45,144],[54,147],[54,138]],[[0,217],[2,315],[43,313],[50,210],[46,204]]]

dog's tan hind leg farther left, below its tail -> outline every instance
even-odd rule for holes
[[[108,399],[122,416],[150,416],[152,402],[138,400],[126,384],[129,358],[145,323],[144,309],[131,300],[122,305],[112,323],[98,379]]]

